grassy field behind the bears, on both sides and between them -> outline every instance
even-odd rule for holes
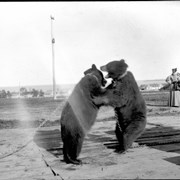
[[[179,108],[167,106],[168,91],[142,92],[142,95],[147,104],[148,116],[180,114]],[[47,120],[45,126],[59,125],[65,101],[52,98],[0,99],[0,129],[37,127],[44,120]],[[113,116],[113,108],[102,107],[97,120],[109,120]]]

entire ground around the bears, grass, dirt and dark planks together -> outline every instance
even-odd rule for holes
[[[143,92],[147,127],[122,155],[114,152],[113,109],[102,107],[83,144],[82,166],[62,161],[59,118],[65,99],[2,99],[0,179],[180,179],[180,108],[167,106],[168,95]]]

